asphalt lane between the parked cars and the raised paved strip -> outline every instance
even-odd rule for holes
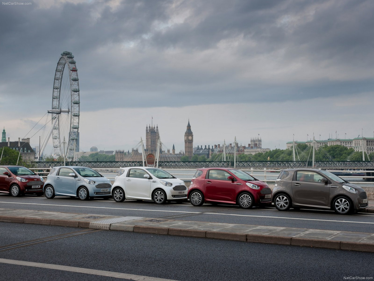
[[[338,215],[327,210],[290,210],[281,212],[273,207],[240,209],[235,205],[194,207],[190,203],[168,203],[95,199],[81,201],[70,197],[46,199],[44,196],[11,197],[0,195],[0,208],[72,212],[82,214],[175,218],[186,221],[251,224],[264,226],[298,227],[373,233],[374,214]]]

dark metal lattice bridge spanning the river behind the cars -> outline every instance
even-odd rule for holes
[[[67,166],[84,166],[91,168],[118,169],[119,167],[141,167],[142,161],[67,161]],[[49,168],[62,166],[61,161],[34,162],[35,168]],[[148,166],[153,166],[149,165]],[[374,161],[159,161],[158,167],[165,169],[191,169],[202,167],[236,167],[239,169],[289,169],[289,168],[315,168],[315,169],[374,169]]]

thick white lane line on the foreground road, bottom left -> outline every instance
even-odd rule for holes
[[[115,277],[115,278],[120,278],[120,279],[136,280],[136,281],[175,281],[172,279],[148,277],[148,276],[142,276],[142,275],[126,274],[126,273],[121,273],[121,272],[104,271],[104,270],[97,270],[97,269],[90,269],[90,268],[77,268],[74,266],[52,265],[49,263],[25,262],[22,260],[0,259],[0,263],[6,263],[9,265],[32,266],[36,268],[55,269],[55,270],[70,271],[70,272],[77,272],[77,273],[83,273],[83,274],[92,274],[92,275],[99,275],[99,276]]]

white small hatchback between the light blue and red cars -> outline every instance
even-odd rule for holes
[[[116,202],[137,199],[163,204],[167,200],[187,199],[187,187],[181,179],[162,169],[126,167],[118,172],[111,194]]]

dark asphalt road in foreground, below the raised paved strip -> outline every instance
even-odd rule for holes
[[[140,277],[207,281],[373,277],[372,253],[113,230],[96,230],[1,250],[9,242],[41,240],[85,230],[4,222],[0,228],[1,280],[119,280],[89,274],[92,269]],[[10,241],[12,237],[14,241]],[[3,259],[20,261],[21,265],[4,263]],[[29,262],[46,268],[28,266]],[[55,265],[60,270],[54,269]],[[77,268],[79,272],[67,267]]]

